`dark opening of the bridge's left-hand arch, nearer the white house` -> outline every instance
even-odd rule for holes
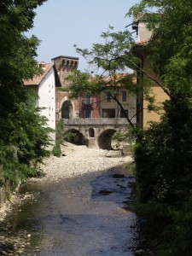
[[[84,135],[76,129],[66,131],[64,133],[64,139],[67,140],[67,142],[76,145],[86,145],[86,139]]]

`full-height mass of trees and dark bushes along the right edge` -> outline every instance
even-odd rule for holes
[[[191,255],[192,2],[142,0],[129,15],[148,24],[151,67],[169,92],[160,124],[143,132],[136,150],[143,212],[158,223],[160,255]]]

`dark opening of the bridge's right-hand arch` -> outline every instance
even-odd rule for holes
[[[108,129],[105,131],[102,131],[100,136],[98,137],[98,146],[102,149],[108,149],[111,150],[112,148],[112,137],[113,134],[116,132],[114,129]]]

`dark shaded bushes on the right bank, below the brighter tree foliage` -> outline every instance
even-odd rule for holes
[[[192,251],[192,117],[185,119],[181,114],[176,125],[170,114],[171,103],[166,102],[165,106],[166,114],[161,122],[143,131],[143,143],[137,143],[135,148],[137,212],[148,218],[154,236],[160,241],[157,255],[189,256]],[[174,108],[174,112],[178,116],[179,111]]]

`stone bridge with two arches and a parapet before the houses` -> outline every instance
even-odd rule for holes
[[[112,136],[115,132],[125,132],[130,126],[126,119],[62,119],[64,134],[75,133],[74,143],[89,148],[112,149]],[[136,123],[136,119],[133,120]]]

